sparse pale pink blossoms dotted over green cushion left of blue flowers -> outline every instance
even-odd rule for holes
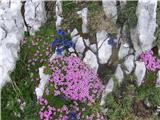
[[[21,41],[21,46],[29,50],[27,56],[30,56],[30,59],[27,61],[27,70],[32,73],[38,73],[38,68],[48,63],[48,59],[52,55],[50,43],[44,41],[42,38],[33,37],[32,41],[24,38],[24,40]],[[34,75],[32,81],[39,81],[39,78]]]

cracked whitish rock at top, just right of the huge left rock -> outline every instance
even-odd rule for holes
[[[46,20],[44,1],[27,0],[25,3],[25,21],[30,28],[30,34],[34,35],[34,32],[39,30]]]

